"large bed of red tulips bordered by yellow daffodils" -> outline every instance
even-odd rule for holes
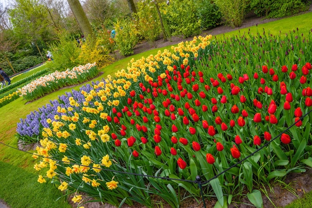
[[[312,167],[310,40],[198,37],[133,60],[81,90],[84,99],[68,95],[40,128],[45,158],[34,168],[48,171],[38,182],[75,192],[79,206],[81,191],[113,205],[152,206],[158,195],[178,207],[181,188],[200,196],[200,176],[221,207],[244,191],[261,207],[254,182]]]

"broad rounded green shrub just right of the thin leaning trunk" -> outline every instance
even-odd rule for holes
[[[197,7],[193,1],[170,0],[169,5],[162,9],[163,20],[170,29],[170,35],[190,37],[200,33],[201,20],[197,17]]]

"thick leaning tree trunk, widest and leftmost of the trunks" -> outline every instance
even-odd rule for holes
[[[79,0],[67,0],[74,16],[75,19],[83,33],[83,35],[86,38],[90,38],[92,39],[93,37],[93,32],[92,32],[92,27],[91,24],[86,16],[86,13],[84,12],[84,10],[82,9],[81,3],[79,2]]]

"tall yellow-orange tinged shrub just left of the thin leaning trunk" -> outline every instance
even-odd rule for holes
[[[155,40],[159,39],[160,23],[154,2],[142,1],[137,4],[138,12],[136,26],[140,35],[150,43],[155,45]]]

